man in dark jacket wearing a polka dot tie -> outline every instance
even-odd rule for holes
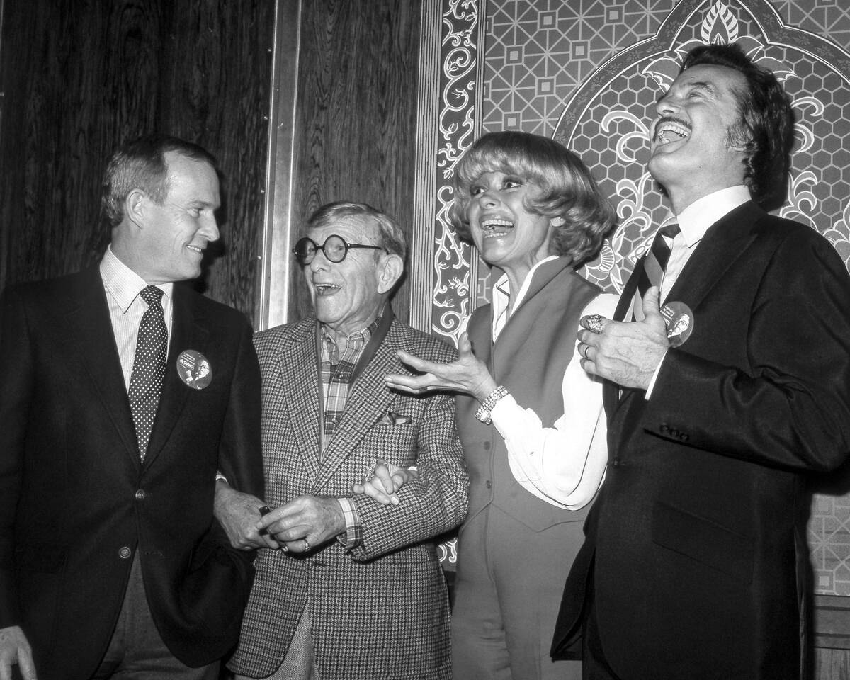
[[[263,481],[251,328],[173,283],[218,239],[213,159],[127,144],[104,206],[98,266],[0,306],[0,674],[218,677],[252,554],[213,519],[217,474]]]

